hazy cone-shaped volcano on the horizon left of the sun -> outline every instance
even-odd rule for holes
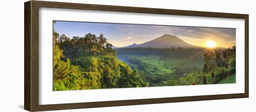
[[[153,47],[153,48],[171,48],[171,47],[183,47],[183,48],[195,48],[201,46],[194,46],[191,45],[180,38],[176,37],[175,35],[164,34],[161,37],[158,37],[154,40],[150,40],[148,42],[142,44],[132,44],[126,46],[126,48],[133,48],[133,47]]]

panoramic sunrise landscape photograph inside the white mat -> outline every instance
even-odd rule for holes
[[[236,83],[236,29],[53,21],[53,91]]]

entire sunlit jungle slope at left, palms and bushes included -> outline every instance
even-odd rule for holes
[[[69,38],[54,31],[53,41],[54,91],[148,86],[103,34]]]

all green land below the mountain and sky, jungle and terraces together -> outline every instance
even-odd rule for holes
[[[113,49],[103,34],[54,30],[54,91],[236,82],[236,46]]]

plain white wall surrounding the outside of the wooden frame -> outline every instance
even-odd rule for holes
[[[24,102],[24,2],[0,3],[0,112],[26,112]],[[68,1],[68,0],[58,0]],[[256,10],[254,0],[69,0],[88,4],[249,14],[249,98],[76,109],[72,112],[255,112]],[[58,112],[71,112],[64,110]]]

